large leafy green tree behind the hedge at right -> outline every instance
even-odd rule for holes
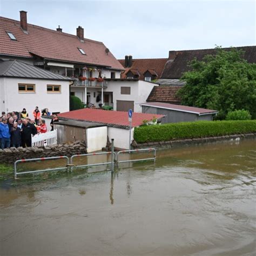
[[[218,119],[229,111],[248,110],[256,118],[256,64],[242,58],[243,51],[217,47],[215,56],[190,62],[191,71],[181,78],[181,104],[218,110]]]

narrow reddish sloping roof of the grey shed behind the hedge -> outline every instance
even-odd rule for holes
[[[175,104],[160,103],[160,102],[141,103],[139,105],[157,107],[158,109],[168,109],[168,110],[174,110],[174,111],[193,113],[193,114],[198,114],[199,116],[202,116],[204,114],[216,114],[216,113],[218,113],[217,110],[201,109],[199,107],[190,107],[190,106],[175,105]]]

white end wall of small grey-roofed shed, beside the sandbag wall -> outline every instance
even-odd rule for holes
[[[107,126],[86,129],[87,152],[102,150],[107,144]]]

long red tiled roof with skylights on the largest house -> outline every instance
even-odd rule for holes
[[[17,39],[11,40],[6,32]],[[84,38],[84,42],[75,35],[46,29],[28,24],[28,33],[21,29],[20,22],[0,17],[0,55],[32,58],[33,55],[63,62],[102,65],[123,70],[123,66],[112,55],[106,53],[102,42]],[[78,48],[84,50],[83,55]]]

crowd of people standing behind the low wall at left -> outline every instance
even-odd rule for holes
[[[21,112],[2,112],[0,116],[0,148],[8,147],[31,147],[31,135],[47,132],[45,120],[42,116],[51,116],[48,109],[44,109],[42,113],[38,106],[33,111],[33,118],[29,118],[26,109]],[[58,122],[57,114],[52,115],[51,131],[53,131],[53,123]]]

